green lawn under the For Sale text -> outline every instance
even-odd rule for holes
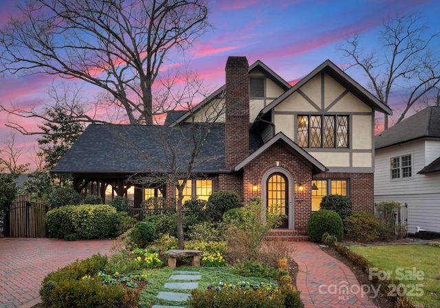
[[[428,245],[350,247],[375,267],[399,278],[406,296],[426,308],[440,307],[440,249]],[[423,279],[423,280],[422,280]],[[397,291],[398,292],[398,291]],[[394,293],[397,293],[396,290]],[[422,295],[423,293],[423,295]]]

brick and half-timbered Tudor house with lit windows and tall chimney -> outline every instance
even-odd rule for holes
[[[142,187],[127,181],[133,173],[168,170],[146,164],[135,149],[115,141],[114,132],[135,140],[150,157],[165,159],[153,133],[171,136],[188,122],[203,122],[207,110],[219,110],[200,153],[215,158],[195,166],[193,173],[205,177],[186,183],[186,199],[207,199],[218,190],[233,190],[243,201],[261,197],[268,211],[287,215],[281,228],[304,234],[325,195],[347,195],[353,210],[373,212],[374,115],[391,109],[331,61],[294,86],[261,61],[248,65],[245,57],[228,58],[225,75],[223,87],[192,111],[168,113],[159,130],[89,125],[52,172],[72,173],[78,192],[102,197],[109,187],[115,195],[130,195],[135,187],[134,207],[153,196],[170,200],[176,192],[169,183]]]

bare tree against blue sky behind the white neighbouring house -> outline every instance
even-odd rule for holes
[[[397,122],[440,81],[440,61],[430,46],[437,34],[428,34],[420,24],[420,15],[396,17],[384,23],[379,50],[361,47],[360,34],[355,34],[337,48],[349,59],[349,66],[360,67],[368,87],[384,104],[390,106],[391,95],[401,96],[404,109]],[[388,129],[385,115],[384,129]]]

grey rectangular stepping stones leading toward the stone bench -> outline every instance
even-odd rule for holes
[[[199,281],[201,279],[200,272],[190,272],[190,271],[174,271],[173,275],[170,276],[170,281]],[[164,287],[166,289],[181,289],[181,290],[191,290],[197,289],[199,283],[165,283]],[[183,292],[159,292],[157,298],[162,300],[173,300],[175,302],[181,302],[183,300],[188,300],[191,294]],[[153,308],[184,308],[181,306],[164,306],[164,305],[153,305]]]

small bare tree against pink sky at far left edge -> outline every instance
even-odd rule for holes
[[[25,147],[15,146],[15,134],[12,132],[3,140],[0,148],[0,170],[6,169],[13,176],[19,176],[29,170],[30,163],[20,164],[20,158],[26,153]]]

